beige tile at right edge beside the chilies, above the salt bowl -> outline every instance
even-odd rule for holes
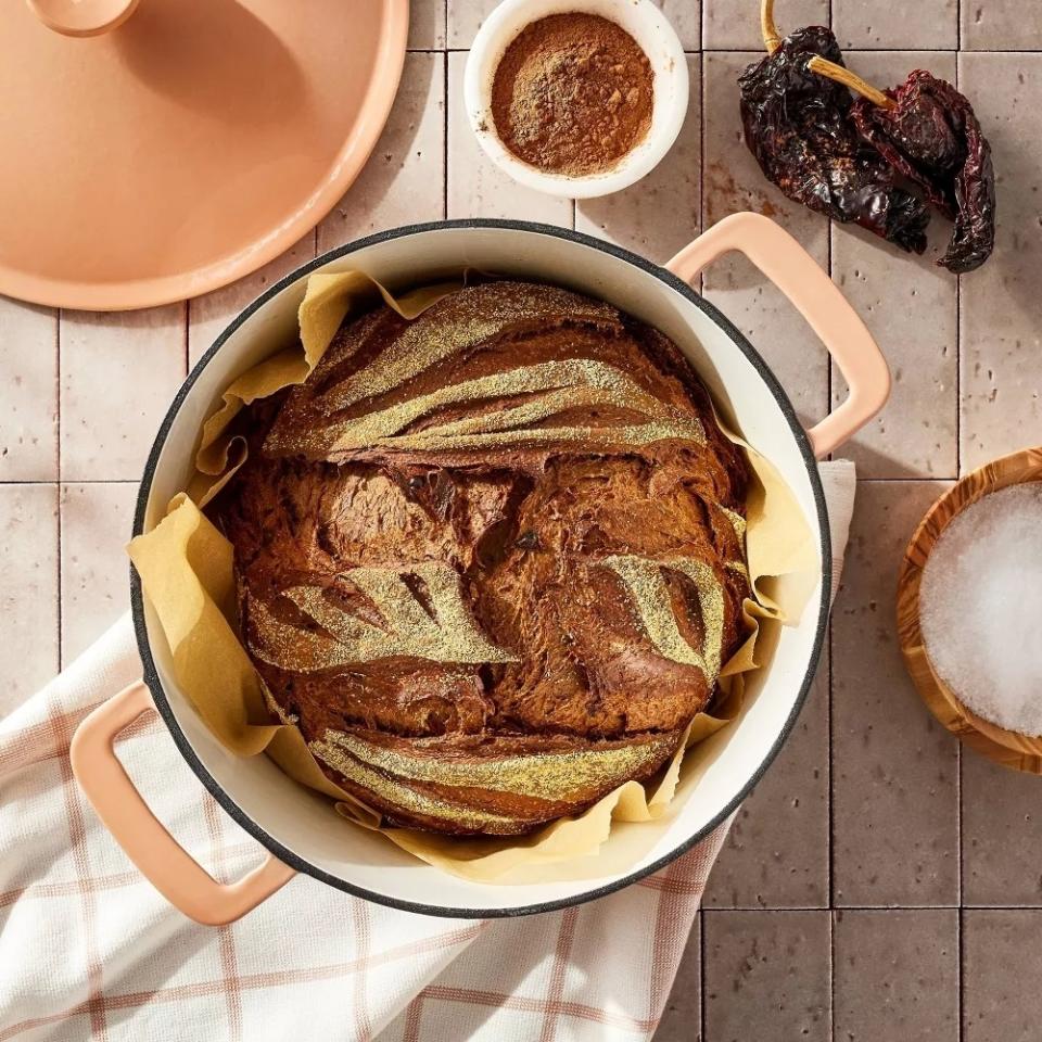
[[[982,0],[981,0],[982,2]],[[962,463],[1042,442],[1042,54],[963,54],[994,150],[995,252],[962,279]]]

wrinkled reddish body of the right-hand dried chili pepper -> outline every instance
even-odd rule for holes
[[[916,69],[882,109],[860,98],[854,123],[865,140],[926,198],[955,221],[948,252],[950,271],[973,271],[995,244],[995,177],[991,147],[969,101],[951,84]]]

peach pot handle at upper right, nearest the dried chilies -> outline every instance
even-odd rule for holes
[[[732,214],[665,265],[691,283],[721,254],[744,253],[788,298],[821,338],[850,393],[808,431],[821,459],[861,430],[890,396],[890,370],[872,333],[833,280],[780,226],[760,214]]]

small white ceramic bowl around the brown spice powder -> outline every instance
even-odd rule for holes
[[[519,160],[499,140],[492,116],[492,81],[507,48],[521,30],[550,14],[599,14],[621,25],[648,55],[655,72],[655,106],[647,137],[602,174],[549,174]],[[684,48],[651,0],[503,0],[474,37],[463,77],[463,103],[481,147],[519,185],[549,195],[590,199],[628,188],[670,151],[687,113]]]

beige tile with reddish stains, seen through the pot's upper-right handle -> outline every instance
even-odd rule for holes
[[[749,153],[738,120],[738,74],[750,53],[706,53],[702,227],[737,209],[753,209],[788,229],[823,266],[828,223],[789,202],[770,185]],[[828,408],[828,356],[792,305],[744,257],[717,260],[704,276],[706,297],[749,338],[788,392],[808,425]]]

